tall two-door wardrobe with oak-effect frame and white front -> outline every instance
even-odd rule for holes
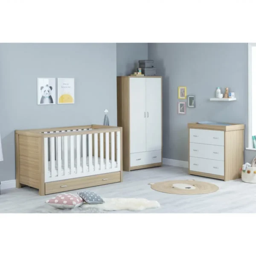
[[[117,77],[117,125],[124,171],[162,165],[162,77]]]

